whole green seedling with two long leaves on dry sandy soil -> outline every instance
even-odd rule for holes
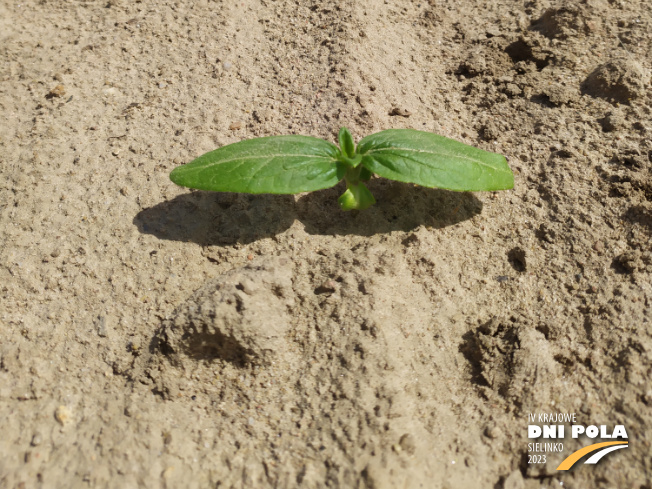
[[[177,185],[216,192],[297,194],[335,186],[343,210],[363,210],[376,200],[364,184],[372,175],[460,192],[507,190],[514,175],[504,156],[429,132],[389,129],[356,147],[348,129],[339,148],[310,136],[271,136],[240,141],[175,168]]]

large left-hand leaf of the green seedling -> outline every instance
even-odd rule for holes
[[[216,192],[296,194],[330,188],[346,172],[337,146],[310,136],[240,141],[175,168],[177,185]]]

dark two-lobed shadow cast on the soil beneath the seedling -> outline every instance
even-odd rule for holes
[[[340,183],[298,199],[292,195],[191,191],[143,209],[133,222],[144,234],[209,246],[248,244],[275,236],[295,219],[312,235],[373,236],[421,225],[439,229],[482,211],[482,202],[470,193],[385,179],[373,179],[368,187],[377,203],[365,211],[340,210],[337,198],[345,190]]]

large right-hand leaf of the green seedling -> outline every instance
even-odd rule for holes
[[[360,141],[357,152],[365,168],[390,180],[464,192],[514,187],[504,156],[429,132],[378,132]]]

